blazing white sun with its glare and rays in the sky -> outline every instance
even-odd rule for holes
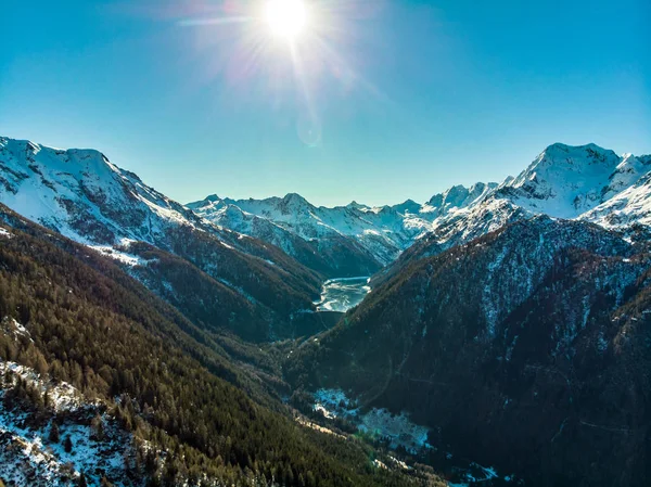
[[[273,110],[294,111],[298,139],[320,148],[328,128],[324,106],[332,97],[361,90],[374,101],[391,102],[359,71],[382,44],[368,37],[363,24],[386,2],[183,0],[191,8],[175,15],[196,33],[195,54],[205,72],[191,81],[197,89],[222,77],[239,94],[233,101],[264,100]]]

